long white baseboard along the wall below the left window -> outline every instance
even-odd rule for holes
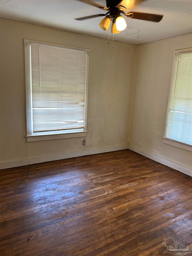
[[[38,163],[78,157],[83,155],[94,155],[94,154],[100,154],[105,152],[118,151],[123,149],[128,149],[128,144],[95,148],[95,149],[87,149],[87,150],[81,150],[81,151],[69,152],[69,153],[63,153],[63,154],[57,154],[57,155],[45,155],[45,156],[26,158],[26,159],[16,160],[16,161],[1,162],[0,170],[19,167],[19,166],[28,165],[28,164],[38,164]]]

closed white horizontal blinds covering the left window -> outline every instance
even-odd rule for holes
[[[84,128],[87,53],[30,46],[33,132]]]

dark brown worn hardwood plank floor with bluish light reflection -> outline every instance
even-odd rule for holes
[[[1,256],[192,255],[189,176],[130,150],[27,170],[0,171]]]

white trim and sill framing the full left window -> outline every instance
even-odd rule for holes
[[[83,50],[87,52],[86,58],[86,81],[85,81],[85,119],[84,119],[84,128],[81,131],[74,131],[74,132],[49,132],[46,134],[37,134],[32,133],[32,93],[31,93],[31,61],[30,61],[30,47],[31,43],[37,44],[45,44],[48,46],[55,46],[55,47],[64,47],[67,49],[75,49],[75,50]],[[89,67],[89,50],[76,48],[76,47],[69,47],[60,44],[50,44],[41,41],[32,41],[29,39],[24,39],[24,48],[25,48],[25,84],[26,84],[26,124],[27,124],[27,135],[26,140],[27,142],[32,141],[41,141],[41,140],[55,140],[55,139],[64,139],[64,138],[75,138],[75,137],[86,137],[87,133],[87,103],[88,103],[88,67]]]

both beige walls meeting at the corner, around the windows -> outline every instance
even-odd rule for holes
[[[0,19],[0,33],[0,167],[118,150],[128,143],[141,154],[191,167],[189,151],[162,139],[173,52],[191,47],[191,34],[138,46],[115,41],[112,49],[106,39],[8,19]],[[24,38],[90,50],[87,137],[26,142]]]

